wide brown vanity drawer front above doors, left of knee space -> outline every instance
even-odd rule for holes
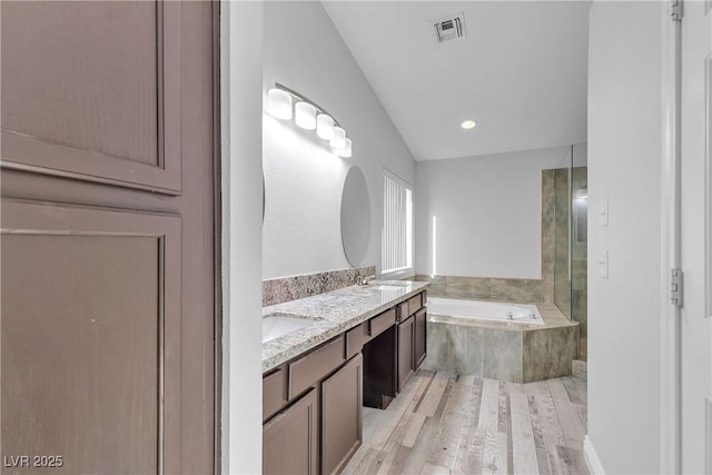
[[[344,335],[289,364],[289,394],[291,399],[314,385],[346,360]]]

